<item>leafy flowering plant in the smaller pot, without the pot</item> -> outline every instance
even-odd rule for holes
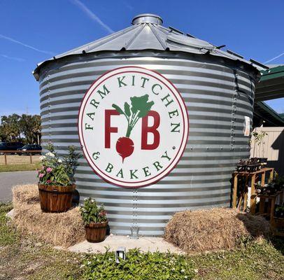
[[[85,225],[90,223],[104,223],[108,221],[104,205],[97,205],[97,202],[91,197],[85,198],[84,204],[80,206],[80,214]]]

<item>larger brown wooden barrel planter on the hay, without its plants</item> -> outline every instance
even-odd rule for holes
[[[76,185],[71,186],[45,186],[38,184],[41,210],[44,212],[66,212],[72,206],[73,191]]]

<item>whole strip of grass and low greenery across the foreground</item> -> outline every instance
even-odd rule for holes
[[[232,251],[194,255],[135,249],[116,265],[112,252],[82,255],[55,250],[33,237],[20,237],[6,218],[10,209],[11,204],[0,204],[0,279],[284,279],[283,239],[243,240]]]

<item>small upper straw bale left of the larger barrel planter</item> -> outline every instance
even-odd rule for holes
[[[15,204],[32,204],[38,203],[38,186],[37,185],[20,185],[12,188],[13,205]]]

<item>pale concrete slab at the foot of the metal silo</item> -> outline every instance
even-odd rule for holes
[[[100,243],[90,243],[85,240],[69,247],[68,250],[76,253],[104,253],[106,252],[105,247],[110,248],[110,251],[115,251],[120,246],[124,246],[127,250],[140,248],[143,252],[159,251],[166,253],[170,251],[171,253],[184,253],[178,247],[164,241],[162,237],[139,237],[139,239],[130,239],[129,237],[120,235],[109,235]]]

